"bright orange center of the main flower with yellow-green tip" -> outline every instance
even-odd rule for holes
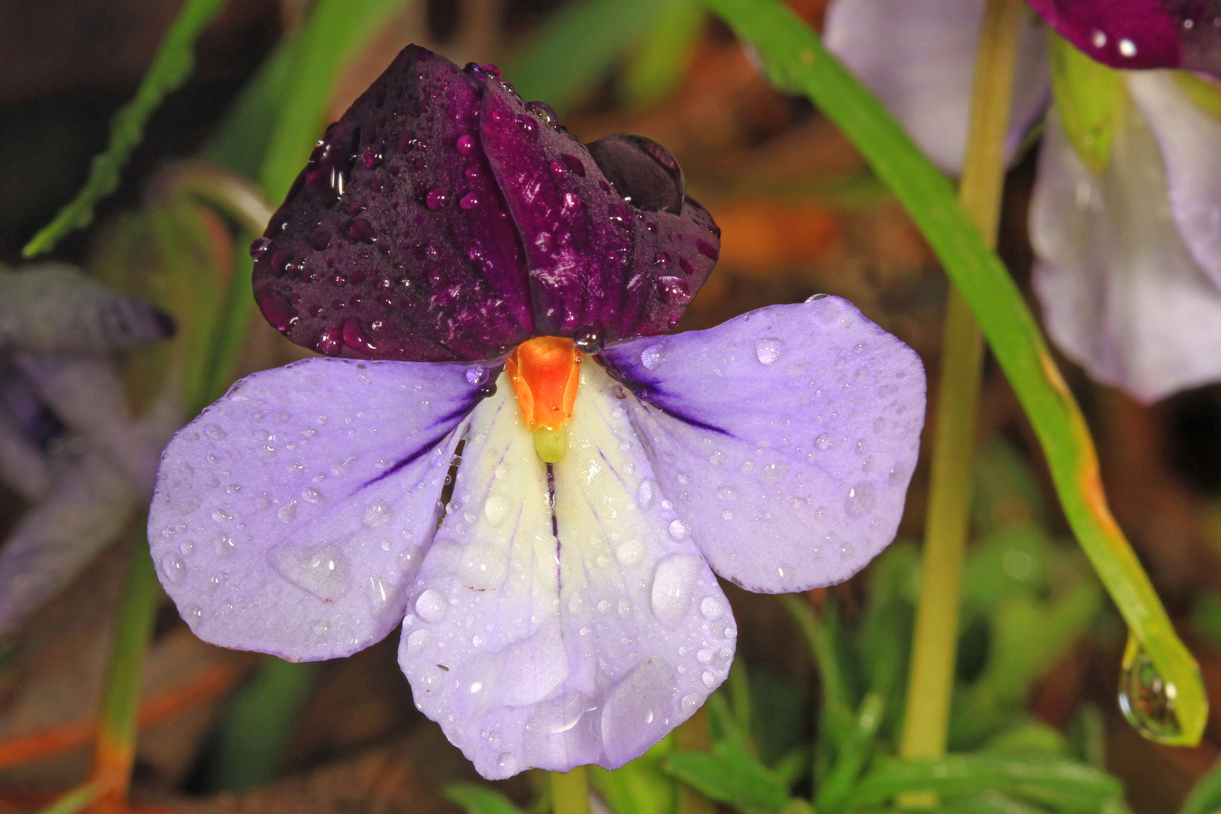
[[[565,426],[573,417],[581,381],[576,345],[564,337],[535,337],[518,345],[504,367],[538,458],[559,463],[568,447]]]

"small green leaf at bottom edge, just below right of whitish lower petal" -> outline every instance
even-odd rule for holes
[[[714,754],[675,752],[662,766],[705,797],[737,808],[778,812],[789,802],[784,783],[739,747],[722,744]]]

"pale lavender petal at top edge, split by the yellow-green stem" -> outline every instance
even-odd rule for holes
[[[827,48],[885,103],[946,172],[962,170],[984,0],[835,0]],[[1018,40],[1006,160],[1051,98],[1046,27],[1028,15]]]

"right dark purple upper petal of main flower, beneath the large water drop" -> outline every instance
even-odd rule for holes
[[[495,78],[487,81],[481,127],[525,244],[536,332],[614,342],[674,327],[720,249],[707,210],[690,198],[680,215],[629,204],[630,190],[612,187],[546,105],[524,104]],[[621,142],[603,146],[613,148],[600,156],[617,182],[651,177],[641,203],[673,209],[673,189],[656,173],[629,166],[631,150],[620,149]],[[659,153],[648,160],[656,167],[674,162],[653,146]]]

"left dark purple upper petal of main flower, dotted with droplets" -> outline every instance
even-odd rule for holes
[[[481,94],[411,45],[327,131],[252,247],[277,330],[327,355],[413,361],[491,359],[534,332]]]

